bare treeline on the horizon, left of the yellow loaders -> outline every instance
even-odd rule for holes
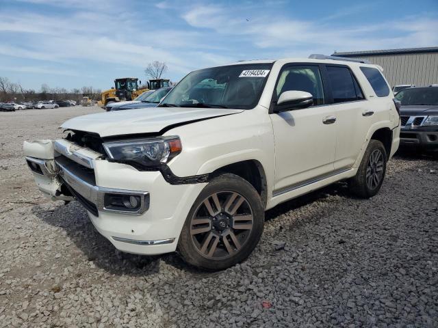
[[[94,87],[81,87],[66,90],[64,87],[41,85],[40,90],[25,89],[21,83],[14,83],[7,77],[0,77],[0,102],[40,101],[40,100],[76,100],[88,96],[93,100],[101,99],[101,90]]]

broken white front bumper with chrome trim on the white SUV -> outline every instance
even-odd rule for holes
[[[185,218],[205,187],[203,183],[172,185],[158,171],[141,172],[107,161],[103,154],[66,139],[25,141],[24,150],[44,195],[79,201],[96,230],[128,253],[175,251]],[[132,198],[135,206],[123,207],[131,196],[138,202]]]

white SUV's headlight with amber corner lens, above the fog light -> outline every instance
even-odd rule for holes
[[[103,143],[110,159],[136,168],[159,167],[181,152],[179,137],[159,137]]]

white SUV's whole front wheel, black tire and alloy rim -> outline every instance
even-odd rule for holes
[[[222,270],[245,260],[259,243],[265,213],[254,187],[240,176],[213,178],[196,198],[179,237],[186,262]]]

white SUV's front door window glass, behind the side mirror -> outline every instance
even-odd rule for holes
[[[324,104],[324,88],[318,66],[290,66],[281,72],[276,85],[277,99],[285,91],[305,91],[313,96],[313,105]]]

